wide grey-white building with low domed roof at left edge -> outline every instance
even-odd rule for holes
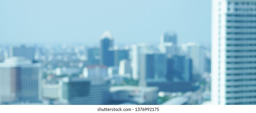
[[[21,57],[0,63],[0,103],[36,102],[42,99],[42,69]]]

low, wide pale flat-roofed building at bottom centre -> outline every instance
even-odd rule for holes
[[[113,86],[110,91],[113,101],[157,105],[157,87]]]

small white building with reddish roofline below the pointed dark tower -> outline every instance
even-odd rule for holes
[[[85,78],[108,77],[107,67],[104,65],[92,65],[84,67],[83,75]]]

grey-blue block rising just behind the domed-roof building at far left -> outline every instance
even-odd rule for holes
[[[25,45],[10,47],[9,57],[24,57],[33,61],[35,59],[35,48]]]

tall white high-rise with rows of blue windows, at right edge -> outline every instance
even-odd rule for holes
[[[256,104],[256,0],[212,0],[211,99]]]

